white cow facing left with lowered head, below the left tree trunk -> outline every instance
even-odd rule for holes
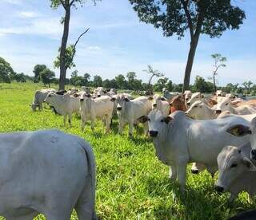
[[[54,109],[54,113],[60,116],[64,116],[64,127],[66,126],[66,118],[69,117],[69,124],[71,127],[72,114],[78,113],[80,115],[79,99],[70,96],[69,93],[64,95],[58,95],[54,92],[50,92],[46,96],[45,102]]]

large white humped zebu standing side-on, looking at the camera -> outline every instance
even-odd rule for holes
[[[249,140],[248,136],[238,138],[226,132],[234,124],[249,124],[239,117],[190,120],[181,111],[167,117],[160,111],[152,111],[140,120],[148,121],[156,155],[162,163],[170,166],[170,179],[178,177],[182,190],[186,185],[187,163],[205,164],[214,174],[218,170],[217,156],[223,147],[239,146]]]

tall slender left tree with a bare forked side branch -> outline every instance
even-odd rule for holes
[[[92,0],[94,4],[96,4],[96,0]],[[65,88],[65,80],[66,80],[66,69],[70,68],[70,66],[73,63],[74,53],[75,53],[75,46],[77,45],[80,37],[82,37],[83,34],[85,34],[88,29],[86,29],[85,32],[83,32],[79,37],[78,40],[74,45],[70,45],[68,49],[66,48],[69,32],[70,32],[70,14],[71,14],[71,7],[77,8],[78,5],[83,6],[85,3],[84,0],[50,0],[51,4],[50,6],[53,9],[57,9],[59,6],[62,6],[65,10],[65,16],[62,18],[62,24],[64,26],[63,34],[62,34],[62,45],[59,54],[59,68],[60,68],[60,77],[59,77],[59,89]],[[71,50],[71,56],[69,54],[69,51]],[[70,59],[71,58],[71,59]],[[57,59],[58,60],[58,59]]]

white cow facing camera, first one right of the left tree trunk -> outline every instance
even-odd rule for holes
[[[110,122],[113,115],[114,98],[110,96],[101,96],[93,99],[90,94],[84,94],[80,98],[81,104],[81,127],[82,132],[85,128],[86,121],[90,120],[90,128],[94,131],[95,120],[101,119],[106,124],[106,132],[110,131]]]

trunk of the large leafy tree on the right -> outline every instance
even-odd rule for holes
[[[198,46],[198,39],[199,39],[199,34],[197,37],[194,37],[194,39],[191,40],[190,42],[190,52],[186,61],[186,70],[185,70],[182,92],[190,88],[190,74],[193,67],[193,63],[194,63],[194,54]]]

